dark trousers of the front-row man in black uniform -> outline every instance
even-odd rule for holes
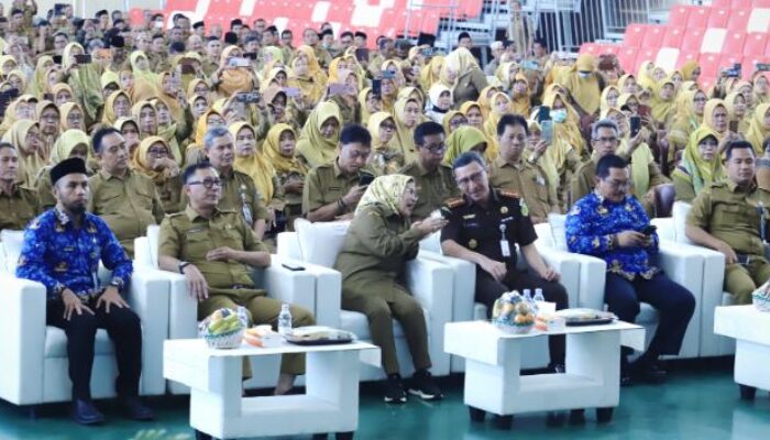
[[[506,292],[531,289],[535,295],[536,288],[542,289],[542,296],[549,302],[557,304],[557,310],[569,307],[566,299],[566,289],[558,282],[549,282],[529,272],[509,270],[503,282],[498,282],[486,273],[483,268],[476,266],[476,302],[482,302],[486,306],[486,317],[492,318],[492,307],[495,300]],[[563,364],[565,358],[565,338],[564,336],[549,337],[548,350],[552,364]]]

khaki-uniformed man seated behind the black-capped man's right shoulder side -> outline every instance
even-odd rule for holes
[[[144,237],[148,226],[163,220],[161,196],[152,179],[129,168],[129,148],[117,129],[98,130],[92,145],[101,170],[88,179],[88,211],[109,224],[131,257],[134,239]]]

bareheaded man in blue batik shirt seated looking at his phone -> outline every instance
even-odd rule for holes
[[[666,372],[658,366],[661,354],[676,354],[695,309],[695,298],[650,264],[658,253],[658,234],[650,228],[641,204],[628,194],[628,163],[614,154],[596,165],[596,189],[578,200],[566,216],[570,252],[593,255],[607,263],[604,300],[623,321],[634,322],[639,301],[658,310],[659,323],[647,351],[628,365],[630,349],[624,348],[622,383],[659,383]]]

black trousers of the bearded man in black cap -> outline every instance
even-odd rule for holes
[[[64,302],[48,301],[46,323],[58,327],[67,334],[67,358],[69,380],[73,382],[73,399],[91,398],[91,370],[94,367],[94,344],[97,329],[105,329],[114,344],[118,361],[116,391],[121,397],[139,395],[139,378],[142,373],[142,327],[140,319],[129,308],[102,305],[96,308],[96,299],[87,306],[95,315],[84,311],[73,312],[69,321],[64,319]]]

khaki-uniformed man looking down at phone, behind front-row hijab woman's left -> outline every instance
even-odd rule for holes
[[[364,169],[372,153],[372,135],[364,127],[342,129],[337,158],[308,172],[302,188],[302,213],[308,220],[351,218],[374,175]]]

